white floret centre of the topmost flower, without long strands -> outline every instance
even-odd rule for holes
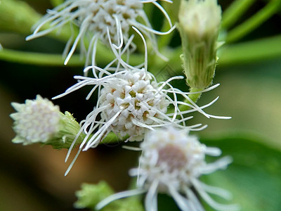
[[[112,42],[118,43],[119,27],[124,38],[128,39],[131,23],[143,15],[143,4],[139,0],[88,0],[81,1],[77,11],[81,11],[77,17],[77,25],[81,26],[84,20],[89,20],[89,32],[99,33],[98,37],[104,43],[108,43],[108,28]]]

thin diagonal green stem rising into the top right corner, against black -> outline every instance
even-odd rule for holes
[[[270,18],[277,11],[279,11],[280,5],[281,5],[280,0],[270,1],[259,12],[251,16],[251,18],[249,18],[244,23],[238,25],[233,30],[231,30],[226,37],[226,42],[230,43],[233,41],[237,41],[238,39],[241,39],[245,35],[249,34],[249,32],[256,29],[256,27],[259,27],[259,25],[264,23],[266,20],[268,20],[268,18]]]

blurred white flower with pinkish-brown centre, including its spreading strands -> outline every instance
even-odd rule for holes
[[[229,199],[228,191],[199,180],[202,174],[225,169],[231,159],[225,157],[207,163],[205,155],[218,156],[221,151],[200,143],[196,136],[188,135],[188,129],[167,127],[150,131],[141,143],[141,150],[139,167],[130,171],[131,176],[138,177],[137,188],[106,198],[96,205],[96,209],[100,210],[118,198],[146,193],[145,210],[157,210],[157,193],[167,193],[181,210],[204,210],[197,194],[216,210],[237,210],[237,205],[216,203],[208,194]]]

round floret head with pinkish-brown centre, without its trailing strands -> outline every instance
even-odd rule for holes
[[[141,143],[141,149],[143,153],[138,176],[144,176],[146,180],[139,185],[151,186],[157,179],[159,190],[164,192],[169,189],[167,184],[177,191],[181,191],[183,186],[190,186],[190,178],[199,177],[207,165],[206,146],[196,136],[188,136],[185,129],[169,127],[149,132]]]

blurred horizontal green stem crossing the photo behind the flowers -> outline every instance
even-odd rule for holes
[[[218,51],[218,65],[233,65],[239,63],[251,63],[256,60],[266,60],[270,58],[277,58],[281,56],[281,35],[258,39],[255,41],[247,41],[241,44],[230,44],[222,46]],[[104,47],[105,48],[105,47]],[[169,67],[182,74],[181,61],[179,56],[182,53],[181,46],[173,51],[163,49],[164,54],[167,55],[169,60]],[[108,63],[113,56],[109,55],[108,50],[98,49],[97,56],[101,62]],[[6,60],[15,63],[25,63],[34,65],[49,65],[49,66],[62,66],[63,58],[60,54],[48,53],[32,53],[23,51],[14,51],[10,49],[3,49],[0,51],[0,60]],[[137,65],[143,62],[143,58],[134,53],[130,56],[130,63]],[[74,55],[70,59],[67,66],[83,66],[84,61],[79,60],[79,56]],[[155,59],[155,63],[150,63],[150,72],[157,74],[162,70],[166,63],[161,59]]]

